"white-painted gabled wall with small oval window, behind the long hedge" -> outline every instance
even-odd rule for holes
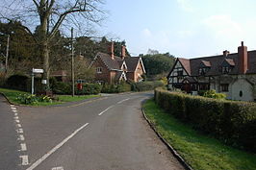
[[[253,101],[252,85],[245,79],[238,79],[231,86],[231,99],[241,101]],[[240,91],[243,91],[243,96],[240,96]]]

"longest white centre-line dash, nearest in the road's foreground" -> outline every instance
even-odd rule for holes
[[[86,123],[79,129],[77,129],[73,134],[68,135],[61,143],[59,143],[51,151],[49,151],[44,156],[42,156],[42,158],[39,158],[35,163],[33,163],[29,168],[27,168],[27,170],[35,169],[43,160],[50,157],[54,152],[56,152],[59,148],[61,148],[64,145],[64,143],[66,143],[70,138],[72,138],[75,134],[79,133],[81,130],[83,130],[88,125],[89,125],[89,123]]]

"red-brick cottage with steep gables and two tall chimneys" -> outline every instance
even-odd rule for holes
[[[97,53],[90,67],[96,69],[95,81],[100,84],[115,84],[120,81],[141,82],[145,69],[141,57],[127,57],[125,46],[122,46],[121,56],[114,55],[114,42],[111,43],[109,54]]]

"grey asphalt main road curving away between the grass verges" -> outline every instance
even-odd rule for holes
[[[28,165],[19,167],[27,170],[183,169],[142,117],[141,101],[150,96],[150,93],[132,93],[60,107],[16,107],[29,161]],[[16,142],[12,137],[10,140]]]

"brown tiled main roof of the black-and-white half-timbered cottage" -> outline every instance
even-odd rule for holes
[[[222,73],[219,71],[219,68],[223,61],[226,61],[230,65],[234,66],[229,74],[239,74],[238,53],[229,54],[227,57],[218,55],[213,57],[195,58],[191,60],[178,58],[178,60],[182,63],[184,68],[191,76],[199,76],[198,70],[202,62],[205,65],[211,65],[210,70],[205,74],[205,76],[221,75]],[[246,73],[256,74],[256,51],[248,51],[248,70]]]

